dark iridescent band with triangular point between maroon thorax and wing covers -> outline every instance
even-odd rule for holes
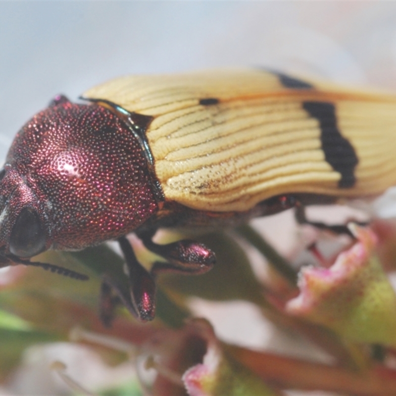
[[[100,103],[106,104],[107,106],[109,106],[110,110],[112,110],[120,119],[122,119],[125,122],[125,124],[128,126],[130,131],[137,139],[140,147],[142,148],[145,154],[148,164],[148,172],[150,174],[151,184],[153,186],[155,197],[157,198],[158,201],[164,201],[165,195],[162,191],[162,187],[159,180],[155,176],[154,157],[152,155],[150,146],[148,145],[147,136],[146,136],[146,131],[148,130],[148,127],[150,126],[150,123],[154,119],[154,117],[150,115],[130,112],[128,110],[125,110],[123,107],[119,106],[118,104],[115,104],[112,101],[106,99],[91,99],[84,97],[80,97],[80,99],[89,100],[99,105]]]

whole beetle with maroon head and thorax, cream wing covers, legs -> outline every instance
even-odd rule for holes
[[[215,260],[194,241],[154,244],[157,228],[232,226],[396,183],[392,95],[217,70],[123,77],[83,99],[56,97],[12,143],[0,173],[0,260],[29,264],[49,248],[118,239],[131,279],[122,297],[143,320],[154,316],[153,275],[202,273]],[[148,273],[130,232],[167,262]],[[110,287],[106,280],[103,298]]]

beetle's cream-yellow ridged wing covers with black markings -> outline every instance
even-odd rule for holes
[[[131,77],[88,92],[153,116],[166,199],[247,211],[287,193],[370,196],[396,184],[396,99],[258,71]]]

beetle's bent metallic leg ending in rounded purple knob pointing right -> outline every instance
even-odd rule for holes
[[[177,272],[180,274],[199,275],[209,271],[216,257],[212,250],[204,244],[184,239],[167,245],[158,245],[152,242],[153,234],[140,234],[145,247],[155,254],[163,257],[167,262],[156,261],[151,273]]]

